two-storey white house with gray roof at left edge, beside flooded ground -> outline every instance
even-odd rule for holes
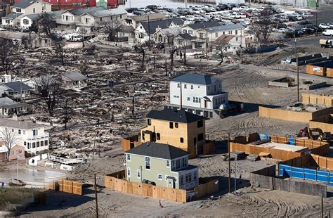
[[[15,143],[24,146],[27,153],[48,150],[48,133],[44,132],[41,124],[1,118],[0,128],[0,134],[11,131],[15,135]]]

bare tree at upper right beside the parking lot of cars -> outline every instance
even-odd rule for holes
[[[270,37],[270,33],[272,32],[274,26],[272,14],[272,9],[263,9],[263,11],[259,13],[258,20],[253,25],[253,30],[256,33],[256,37],[260,39],[260,37],[262,36],[264,42],[268,41],[268,38]]]

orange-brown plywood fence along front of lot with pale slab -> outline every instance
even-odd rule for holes
[[[300,157],[304,153],[298,153],[298,152],[292,152],[287,150],[280,150],[275,148],[263,148],[259,146],[254,146],[250,144],[240,144],[235,142],[230,142],[230,151],[243,151],[244,153],[247,153],[248,155],[259,155],[259,153],[270,153],[272,155],[272,158],[278,159],[278,160],[289,160],[292,158]]]

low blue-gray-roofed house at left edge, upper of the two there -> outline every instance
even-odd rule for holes
[[[19,98],[27,98],[30,96],[30,91],[33,88],[20,82],[6,82],[0,84],[0,95],[1,96],[9,96],[11,98],[19,99]]]

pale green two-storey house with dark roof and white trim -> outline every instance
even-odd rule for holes
[[[127,181],[181,189],[199,184],[198,167],[188,165],[188,153],[180,148],[147,142],[125,155]]]

